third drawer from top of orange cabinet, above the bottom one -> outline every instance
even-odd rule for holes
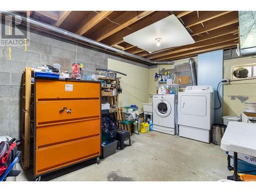
[[[100,119],[36,128],[36,149],[76,139],[100,136]]]

